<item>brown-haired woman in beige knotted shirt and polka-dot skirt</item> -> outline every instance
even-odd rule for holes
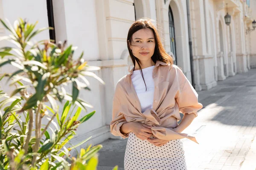
[[[116,84],[110,125],[113,135],[128,137],[125,170],[186,170],[180,139],[196,140],[181,132],[202,108],[198,94],[164,50],[151,20],[133,23],[127,45],[134,67]]]

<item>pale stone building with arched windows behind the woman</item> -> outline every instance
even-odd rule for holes
[[[18,17],[38,20],[37,28],[54,27],[35,39],[68,40],[79,47],[76,56],[84,51],[90,65],[102,68],[95,73],[106,85],[89,79],[92,91],[80,94],[96,115],[79,127],[74,143],[89,136],[94,144],[115,138],[109,132],[113,93],[132,64],[128,29],[141,17],[156,21],[164,48],[174,54],[175,63],[198,91],[256,68],[256,31],[251,31],[255,0],[0,0],[0,17],[11,23]],[[5,34],[9,32],[1,25],[0,36]],[[6,42],[0,42],[3,45]],[[1,87],[11,92],[8,85]]]

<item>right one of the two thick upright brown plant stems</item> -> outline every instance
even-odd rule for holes
[[[38,151],[38,148],[39,148],[39,144],[40,144],[40,130],[41,130],[41,114],[40,114],[40,111],[41,111],[41,108],[42,108],[42,102],[39,103],[38,105],[38,110],[36,112],[36,115],[35,115],[35,145],[34,145],[34,149],[33,149],[33,152],[37,152]],[[35,167],[35,164],[36,164],[36,155],[33,156],[32,158],[32,166]]]

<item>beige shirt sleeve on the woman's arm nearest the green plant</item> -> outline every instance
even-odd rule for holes
[[[112,121],[110,123],[110,132],[114,136],[121,136],[123,139],[125,139],[128,137],[128,135],[123,134],[120,131],[120,127],[124,123],[127,123],[125,116],[122,113],[122,95],[124,95],[124,91],[120,85],[120,82],[118,82],[113,96]]]

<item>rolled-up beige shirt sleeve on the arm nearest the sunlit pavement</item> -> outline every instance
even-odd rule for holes
[[[176,101],[180,113],[194,113],[195,116],[198,116],[197,112],[203,108],[203,105],[198,102],[197,92],[179,68],[177,69],[177,76],[179,81],[179,91],[176,95]]]

